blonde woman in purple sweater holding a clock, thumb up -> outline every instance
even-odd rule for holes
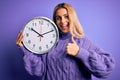
[[[95,46],[83,33],[70,4],[58,4],[53,21],[59,29],[59,41],[48,53],[32,54],[23,47],[20,33],[16,44],[24,52],[25,68],[43,80],[91,80],[91,75],[105,78],[114,68],[111,55]]]

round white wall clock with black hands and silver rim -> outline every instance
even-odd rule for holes
[[[58,28],[46,17],[30,20],[23,29],[23,45],[31,52],[44,54],[58,41]]]

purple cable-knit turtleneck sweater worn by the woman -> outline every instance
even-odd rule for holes
[[[110,54],[98,48],[86,37],[74,38],[80,50],[76,56],[66,54],[70,33],[61,33],[58,43],[46,54],[38,55],[24,47],[25,69],[42,80],[91,80],[91,75],[106,77],[114,68]]]

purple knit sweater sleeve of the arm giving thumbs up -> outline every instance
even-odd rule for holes
[[[76,55],[94,76],[105,78],[111,73],[115,61],[110,53],[95,46],[86,37],[83,39],[79,53]]]

